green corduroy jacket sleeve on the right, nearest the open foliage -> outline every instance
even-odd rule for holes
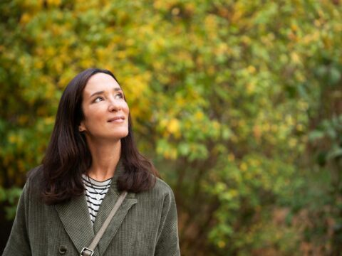
[[[155,248],[155,256],[178,256],[180,245],[178,241],[177,209],[172,191],[165,196],[160,221],[159,236]]]

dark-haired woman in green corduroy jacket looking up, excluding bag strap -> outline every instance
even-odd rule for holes
[[[134,144],[118,80],[108,70],[84,70],[63,92],[3,255],[80,255],[123,191],[93,255],[180,255],[175,198],[157,176]]]

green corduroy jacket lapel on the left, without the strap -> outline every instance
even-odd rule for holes
[[[88,247],[94,238],[86,196],[78,196],[67,203],[55,206],[66,233],[78,252]]]

